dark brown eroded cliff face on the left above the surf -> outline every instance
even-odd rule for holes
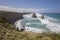
[[[5,18],[9,23],[14,24],[17,20],[23,19],[27,13],[0,12],[0,17]]]

